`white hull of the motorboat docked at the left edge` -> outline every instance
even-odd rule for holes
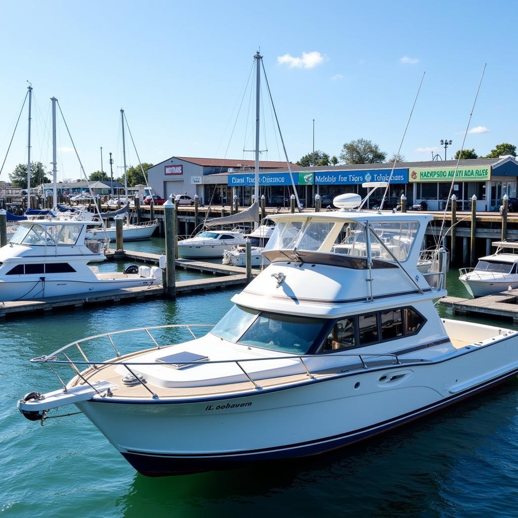
[[[118,279],[97,279],[77,281],[72,279],[39,278],[23,281],[0,280],[0,301],[30,300],[66,295],[92,294],[110,290],[121,290],[137,286],[151,286],[159,281],[150,277],[127,275]]]

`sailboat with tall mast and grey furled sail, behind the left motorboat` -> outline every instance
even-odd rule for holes
[[[128,200],[128,183],[127,183],[127,167],[126,167],[126,138],[124,128],[124,110],[121,108],[121,125],[122,125],[122,155],[124,160],[124,200]],[[140,161],[139,161],[140,162]],[[146,178],[146,175],[144,175]],[[147,181],[147,180],[146,180]],[[141,241],[149,239],[155,229],[159,226],[158,220],[142,221],[141,223],[130,223],[130,214],[128,213],[129,204],[126,204],[124,209],[114,211],[112,213],[104,213],[104,218],[114,217],[118,213],[125,213],[125,221],[122,226],[122,239],[124,241]],[[109,239],[110,241],[116,240],[116,229],[114,227],[103,228],[94,227],[90,228],[86,234],[87,239],[93,239],[95,241],[104,241]]]

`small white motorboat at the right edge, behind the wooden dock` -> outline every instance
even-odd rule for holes
[[[518,288],[518,242],[495,241],[493,246],[497,247],[494,254],[480,257],[474,268],[459,270],[459,280],[473,297]]]

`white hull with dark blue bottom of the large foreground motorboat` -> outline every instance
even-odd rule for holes
[[[77,406],[144,474],[225,469],[339,448],[488,389],[518,372],[517,342],[504,335],[434,363],[416,356],[289,389],[188,402],[94,397]]]

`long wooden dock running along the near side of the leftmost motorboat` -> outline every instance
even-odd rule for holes
[[[206,279],[190,279],[176,282],[176,295],[188,295],[194,292],[224,290],[228,287],[247,284],[250,279],[244,274],[209,277]],[[109,290],[98,293],[81,293],[63,297],[48,297],[33,300],[16,300],[0,302],[0,318],[6,316],[22,316],[27,313],[52,311],[54,309],[74,309],[83,306],[120,304],[121,302],[142,301],[150,298],[168,298],[164,295],[162,285],[137,286],[121,290]]]

